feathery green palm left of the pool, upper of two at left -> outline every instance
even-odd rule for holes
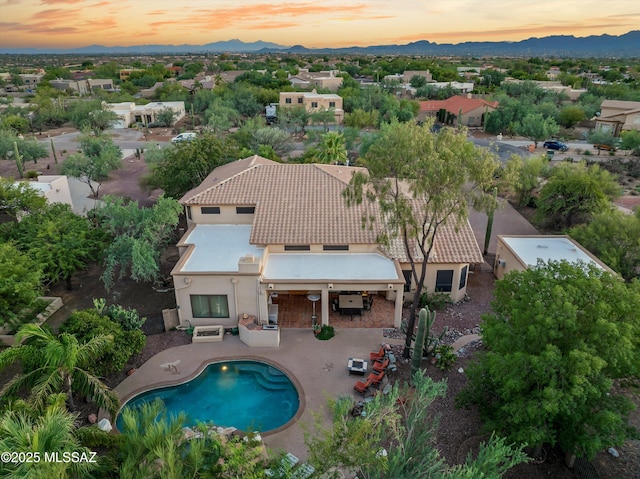
[[[23,340],[27,341],[26,345],[21,344]],[[30,390],[32,402],[41,407],[49,396],[63,392],[67,395],[69,410],[75,411],[73,393],[77,392],[91,397],[99,407],[115,415],[118,397],[97,377],[82,369],[99,357],[112,341],[112,336],[100,335],[80,343],[72,334],[54,336],[36,324],[25,324],[16,334],[16,345],[0,352],[0,369],[15,361],[35,361],[36,367],[15,376],[0,391],[0,396],[11,397],[18,391]]]

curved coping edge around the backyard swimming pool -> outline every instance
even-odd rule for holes
[[[296,378],[295,375],[291,371],[289,371],[286,367],[284,367],[282,364],[279,364],[277,361],[273,361],[271,359],[265,359],[262,356],[229,356],[229,357],[222,356],[222,357],[219,357],[219,358],[215,358],[215,359],[212,358],[212,359],[208,359],[208,360],[202,361],[202,363],[200,363],[200,366],[197,367],[193,372],[187,374],[184,377],[176,379],[175,381],[160,381],[160,382],[157,382],[157,383],[150,383],[150,384],[148,384],[146,386],[141,386],[141,387],[139,387],[137,389],[134,389],[130,393],[128,393],[126,396],[123,396],[122,398],[120,398],[121,406],[118,409],[118,412],[116,413],[114,418],[111,419],[113,430],[118,432],[118,433],[120,432],[118,430],[118,428],[116,427],[115,418],[118,417],[118,415],[120,414],[120,412],[122,412],[122,409],[124,409],[124,407],[127,405],[127,403],[129,401],[131,401],[132,399],[134,399],[136,396],[138,396],[140,394],[144,394],[144,393],[149,392],[149,391],[153,391],[155,389],[163,389],[163,388],[167,388],[167,387],[180,386],[181,384],[186,384],[189,381],[193,381],[195,378],[200,376],[200,374],[202,374],[204,372],[205,368],[207,366],[209,366],[210,364],[217,364],[217,363],[222,363],[222,362],[225,362],[225,361],[229,361],[229,362],[231,362],[231,361],[256,361],[256,362],[268,364],[269,366],[273,366],[273,367],[281,370],[283,373],[285,373],[287,375],[287,378],[289,379],[289,381],[291,381],[291,383],[296,388],[296,391],[298,393],[298,409],[296,410],[296,413],[291,417],[291,419],[289,419],[285,424],[283,424],[280,427],[277,427],[275,429],[270,429],[269,431],[258,431],[260,433],[260,436],[268,437],[268,436],[270,436],[272,434],[277,434],[279,432],[282,432],[285,429],[293,426],[300,419],[300,417],[302,417],[302,413],[305,411],[306,405],[307,405],[307,400],[306,400],[306,397],[305,397],[305,394],[304,394],[304,388],[302,387],[302,384],[300,383],[300,381],[298,381],[298,378]],[[214,424],[214,426],[229,427],[228,424]],[[238,431],[240,431],[243,434],[247,433],[247,431],[242,431],[241,429],[238,429]]]

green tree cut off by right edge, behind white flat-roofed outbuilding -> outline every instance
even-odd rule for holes
[[[598,213],[589,223],[571,228],[569,235],[626,281],[640,278],[640,208],[632,215]]]

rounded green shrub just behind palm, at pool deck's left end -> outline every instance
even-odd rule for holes
[[[98,376],[121,371],[131,356],[142,351],[147,339],[139,329],[127,331],[119,323],[100,315],[94,309],[71,313],[60,330],[75,335],[80,342],[100,334],[113,336],[113,342],[104,354],[92,364],[84,365],[89,372]]]

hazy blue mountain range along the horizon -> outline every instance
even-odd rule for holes
[[[623,35],[554,35],[529,38],[519,42],[433,43],[428,40],[405,45],[372,45],[368,47],[306,48],[302,45],[284,46],[257,41],[245,43],[228,40],[205,45],[135,45],[129,47],[90,45],[71,49],[2,48],[0,54],[187,54],[187,53],[297,53],[297,54],[353,54],[353,55],[424,55],[457,57],[640,57],[640,30]]]

